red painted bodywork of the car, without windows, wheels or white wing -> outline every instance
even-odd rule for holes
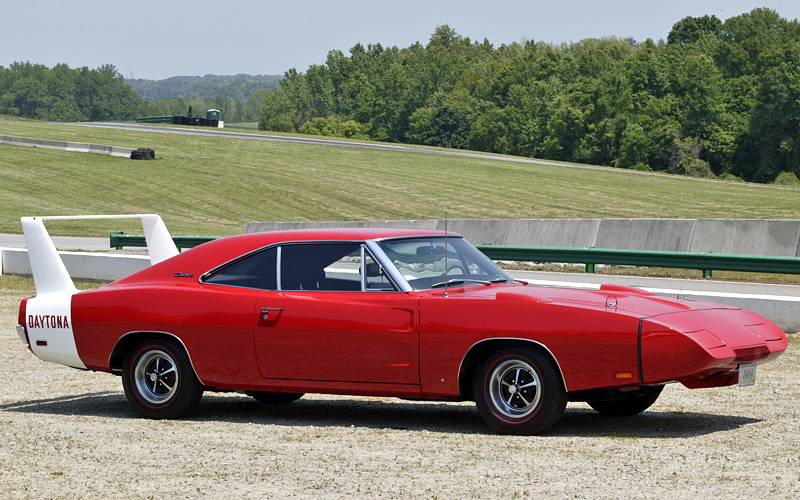
[[[785,335],[754,313],[626,287],[495,284],[454,287],[445,296],[443,290],[280,292],[198,282],[222,263],[284,240],[412,234],[441,233],[293,231],[206,243],[76,294],[72,327],[79,355],[89,369],[108,371],[120,338],[164,332],[186,346],[202,382],[219,389],[437,398],[459,396],[460,378],[472,376],[460,371],[465,358],[487,342],[528,342],[550,352],[569,391],[683,380],[723,385],[736,369],[735,349],[759,348],[757,361],[764,362],[787,346]],[[606,305],[609,295],[615,307]],[[271,309],[266,319],[262,308]],[[615,378],[619,372],[633,377]]]

